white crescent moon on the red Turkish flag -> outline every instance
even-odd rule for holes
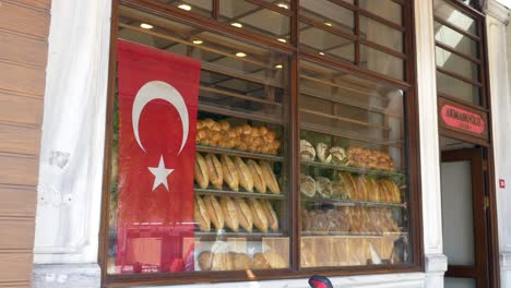
[[[140,115],[144,109],[145,105],[155,99],[166,100],[174,107],[176,107],[182,123],[182,137],[181,147],[179,148],[178,155],[181,153],[185,144],[188,140],[189,121],[188,121],[188,109],[185,99],[181,94],[171,85],[162,81],[151,81],[145,83],[142,88],[139,89],[133,101],[133,109],[131,112],[131,119],[133,120],[133,133],[135,135],[136,143],[144,151],[144,146],[140,141],[139,135],[139,121]]]

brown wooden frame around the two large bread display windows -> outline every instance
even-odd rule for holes
[[[218,0],[213,0],[212,17],[207,19],[193,13],[187,13],[178,8],[164,5],[153,2],[152,0],[114,0],[111,14],[111,35],[110,35],[110,62],[108,77],[108,103],[107,103],[107,119],[106,119],[106,136],[105,136],[105,164],[104,164],[104,182],[103,182],[103,199],[102,199],[102,226],[99,235],[99,264],[102,267],[102,287],[126,287],[126,286],[146,286],[146,285],[175,285],[175,284],[195,284],[195,283],[223,283],[223,281],[246,281],[246,280],[270,280],[285,278],[307,278],[313,274],[322,274],[325,276],[352,276],[352,275],[375,275],[387,273],[413,273],[424,272],[424,244],[423,244],[423,221],[421,221],[421,192],[420,192],[420,157],[419,157],[419,133],[418,133],[418,101],[416,86],[416,68],[415,68],[415,24],[414,24],[414,7],[412,0],[392,0],[402,5],[402,28],[403,33],[403,59],[404,63],[404,81],[393,79],[373,71],[365,70],[356,64],[334,61],[319,57],[317,55],[308,55],[298,49],[298,0],[290,1],[290,41],[287,44],[280,43],[275,39],[249,33],[239,28],[231,27],[225,23],[216,22],[218,16]],[[249,0],[252,3],[264,3],[265,8],[278,12],[276,5],[264,2],[262,0]],[[356,5],[350,5],[341,0],[332,0],[350,9],[359,11],[366,17],[382,22],[377,15],[358,10]],[[355,4],[357,0],[355,0]],[[289,136],[290,142],[290,177],[289,181],[289,203],[293,206],[289,215],[290,219],[290,262],[288,269],[269,269],[258,271],[257,278],[249,278],[245,272],[189,272],[179,274],[155,273],[155,274],[127,274],[127,275],[109,275],[107,274],[107,252],[108,252],[108,219],[109,219],[109,179],[110,179],[110,143],[112,139],[112,108],[116,89],[116,69],[117,69],[117,52],[115,43],[117,40],[117,32],[119,24],[119,5],[123,4],[130,8],[155,14],[157,16],[167,17],[169,20],[178,20],[182,23],[194,25],[199,28],[204,28],[223,36],[234,37],[246,43],[250,43],[260,47],[268,48],[273,51],[285,53],[290,59],[290,110],[289,110]],[[287,13],[287,12],[286,12]],[[358,12],[356,12],[358,17]],[[383,23],[384,24],[384,23]],[[355,33],[358,33],[358,25],[355,27]],[[365,44],[365,43],[363,43]],[[357,40],[357,45],[360,43]],[[377,48],[378,49],[378,48]],[[389,49],[389,48],[385,48]],[[381,50],[385,52],[384,50]],[[412,245],[412,262],[396,265],[361,265],[361,266],[340,266],[340,267],[317,267],[317,268],[299,268],[299,192],[298,180],[299,175],[299,120],[298,120],[298,61],[299,59],[312,60],[335,69],[344,70],[350,74],[382,82],[389,86],[403,89],[405,92],[404,99],[404,120],[407,139],[407,168],[409,179],[408,190],[408,207],[409,207],[409,241]]]

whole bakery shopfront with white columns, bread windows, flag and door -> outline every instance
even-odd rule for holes
[[[385,3],[54,1],[34,286],[507,287],[508,10]]]

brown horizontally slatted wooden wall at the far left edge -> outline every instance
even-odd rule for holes
[[[51,0],[0,0],[0,288],[31,287]]]

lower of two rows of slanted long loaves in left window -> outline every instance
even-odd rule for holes
[[[248,232],[255,227],[268,233],[278,232],[278,218],[268,200],[241,199],[213,195],[195,195],[194,218],[201,231],[209,232],[229,228],[238,232],[240,228]]]

